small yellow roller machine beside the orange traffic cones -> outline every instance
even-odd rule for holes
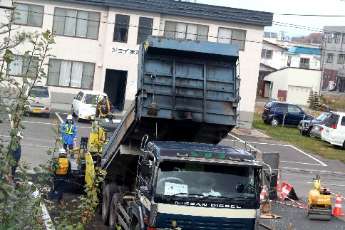
[[[313,178],[314,179],[314,178]],[[310,220],[331,220],[331,192],[321,188],[320,177],[316,174],[314,189],[309,191],[308,217]]]

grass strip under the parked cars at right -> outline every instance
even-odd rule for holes
[[[312,138],[307,136],[299,135],[299,130],[297,126],[284,125],[282,126],[272,126],[266,125],[262,121],[262,112],[260,113],[260,108],[255,110],[254,120],[252,127],[257,130],[262,130],[266,135],[282,140],[282,142],[287,142],[291,145],[301,148],[304,152],[312,152],[316,155],[320,155],[326,159],[340,160],[345,163],[345,150],[340,147],[334,147],[331,144],[321,142],[319,138]]]

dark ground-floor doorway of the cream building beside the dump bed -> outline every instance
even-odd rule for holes
[[[127,71],[105,70],[104,93],[108,95],[115,110],[123,110],[125,105],[125,86],[127,83]]]

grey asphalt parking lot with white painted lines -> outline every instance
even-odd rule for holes
[[[47,150],[52,150],[56,145],[55,134],[51,130],[56,128],[55,120],[63,122],[70,113],[68,110],[53,110],[50,118],[41,117],[41,115],[30,115],[24,117],[24,139],[21,140],[22,154],[21,161],[27,162],[31,167],[38,167],[39,164],[48,160],[51,156],[46,155]],[[4,115],[9,118],[8,115]],[[77,122],[78,140],[81,137],[88,137],[91,131],[91,122]],[[9,123],[0,123],[0,138],[9,140]],[[296,147],[279,140],[272,140],[269,137],[262,137],[257,132],[247,132],[246,130],[234,130],[220,142],[220,145],[230,145],[247,150],[257,150],[261,152],[279,152],[280,153],[280,181],[292,185],[294,191],[299,197],[299,203],[307,204],[309,190],[313,189],[313,177],[319,174],[323,187],[329,187],[331,192],[345,194],[345,167],[344,163],[338,160],[325,160],[309,152],[303,152]],[[58,148],[61,144],[58,143]],[[58,149],[57,148],[57,149]],[[344,150],[345,154],[345,150]],[[258,156],[259,156],[258,155]],[[71,160],[72,164],[75,163]],[[282,200],[277,199],[282,202]],[[332,205],[334,206],[336,196],[332,195]],[[284,201],[287,204],[292,202]],[[345,200],[343,213],[345,212]],[[289,207],[282,204],[272,203],[272,212],[281,216],[279,219],[262,219],[262,223],[272,229],[288,229],[289,223],[292,229],[345,229],[344,217],[332,217],[331,221],[311,221],[307,217],[307,210]],[[260,229],[265,229],[260,227]]]

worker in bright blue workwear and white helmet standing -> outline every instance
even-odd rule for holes
[[[66,122],[63,122],[61,127],[61,140],[63,140],[63,148],[67,152],[73,150],[73,143],[77,141],[77,125],[72,120],[72,115],[67,116]],[[74,153],[71,153],[71,158],[74,159]]]

